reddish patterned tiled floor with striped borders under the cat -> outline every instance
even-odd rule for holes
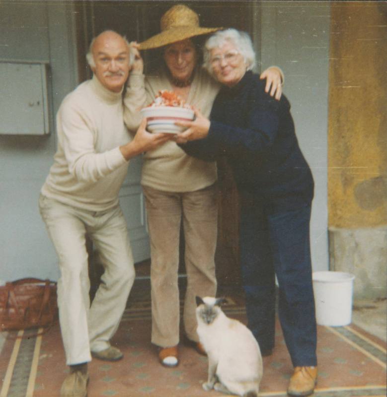
[[[225,307],[229,317],[245,322],[243,305],[233,297]],[[180,364],[162,367],[150,343],[150,302],[137,300],[127,309],[114,345],[123,360],[89,365],[88,397],[211,397],[201,384],[207,377],[207,358],[180,347]],[[316,396],[386,396],[386,343],[356,326],[318,327],[318,385]],[[0,355],[0,397],[54,397],[67,373],[59,326],[35,338],[8,335]],[[276,348],[264,358],[260,395],[285,396],[292,365],[279,325]]]

